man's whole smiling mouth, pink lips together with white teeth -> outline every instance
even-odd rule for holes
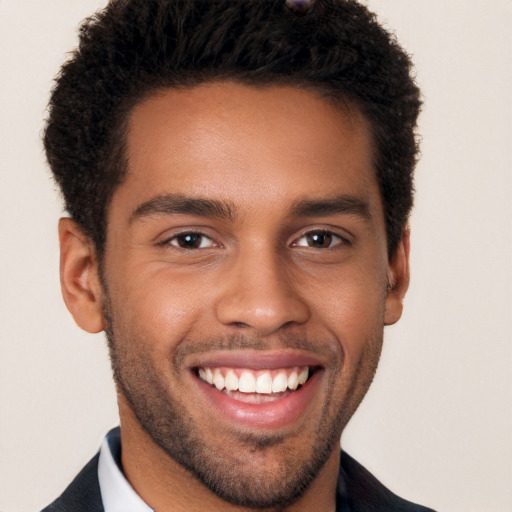
[[[323,400],[325,365],[299,351],[218,351],[189,366],[195,400],[227,428],[275,432],[307,421]]]

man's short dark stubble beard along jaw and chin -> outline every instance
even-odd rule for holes
[[[276,434],[244,434],[235,436],[234,444],[245,450],[237,452],[233,443],[223,444],[223,450],[205,442],[200,425],[197,425],[187,411],[187,407],[171,389],[154,367],[147,345],[142,340],[118,339],[112,318],[110,300],[104,300],[105,333],[109,347],[114,381],[118,392],[128,402],[137,420],[169,457],[187,469],[204,486],[225,501],[249,509],[281,511],[295,503],[318,476],[333,451],[339,450],[341,430],[344,428],[366,391],[375,374],[382,346],[380,341],[370,343],[370,361],[357,371],[358,378],[365,382],[364,389],[351,394],[351,403],[333,408],[336,371],[331,371],[329,390],[323,409],[319,415],[314,439],[309,436],[311,446],[308,457],[297,460],[296,450],[281,449],[282,460],[278,467],[266,472],[254,471],[247,464],[247,458],[257,456],[261,460],[266,450],[290,446],[283,444],[285,439]],[[373,340],[375,341],[375,340]],[[237,340],[239,344],[240,340]],[[219,345],[229,345],[222,340]],[[126,347],[138,350],[127,350]],[[372,348],[373,347],[373,348]],[[146,350],[144,350],[146,348]],[[338,363],[341,370],[341,362]],[[361,370],[361,371],[359,371]],[[353,382],[351,387],[358,387]],[[359,386],[360,387],[360,386]],[[349,393],[351,393],[349,389]]]

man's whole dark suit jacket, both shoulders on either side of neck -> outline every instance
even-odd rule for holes
[[[119,435],[118,429],[116,434]],[[96,454],[62,496],[42,512],[104,512],[98,482],[98,458],[99,454]],[[336,512],[434,511],[399,498],[342,451],[336,490]]]

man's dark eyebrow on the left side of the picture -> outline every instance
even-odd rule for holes
[[[179,213],[231,221],[235,218],[235,208],[227,202],[180,194],[165,194],[152,197],[139,205],[130,217],[130,224],[150,215]]]

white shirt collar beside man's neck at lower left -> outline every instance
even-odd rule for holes
[[[117,441],[111,432],[105,436],[98,461],[98,480],[105,512],[153,512],[129,484],[114,460],[112,453],[120,453],[120,446],[111,446]]]

